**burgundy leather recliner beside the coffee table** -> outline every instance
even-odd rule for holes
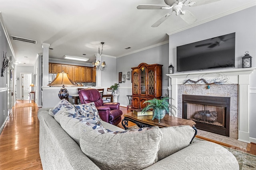
[[[122,115],[122,111],[119,110],[120,103],[103,103],[100,92],[94,88],[79,90],[78,94],[81,104],[94,102],[103,121],[112,125],[120,123]]]

